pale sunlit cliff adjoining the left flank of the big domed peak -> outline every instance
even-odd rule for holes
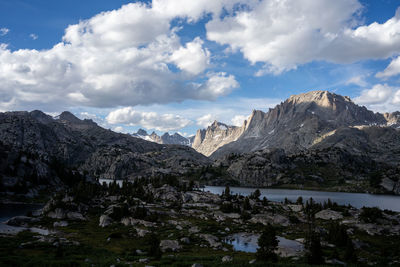
[[[242,127],[237,127],[214,121],[207,129],[197,130],[192,147],[197,152],[210,156],[218,148],[236,141],[245,129],[246,122]]]

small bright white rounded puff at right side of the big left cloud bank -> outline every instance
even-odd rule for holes
[[[196,37],[192,42],[186,43],[171,55],[171,61],[179,69],[197,75],[202,73],[210,64],[210,52],[203,49],[203,41]]]

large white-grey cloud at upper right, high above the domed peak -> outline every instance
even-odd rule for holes
[[[357,0],[260,0],[207,23],[207,38],[241,51],[256,75],[279,74],[315,60],[351,63],[400,52],[400,12],[362,25]],[[323,14],[323,15],[321,15]]]

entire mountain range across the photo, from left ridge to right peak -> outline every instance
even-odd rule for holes
[[[115,133],[70,112],[0,113],[0,191],[35,195],[80,179],[186,176],[203,183],[400,194],[400,112],[328,91],[291,96],[240,127],[192,138]]]

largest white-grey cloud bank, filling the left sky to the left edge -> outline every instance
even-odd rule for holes
[[[1,45],[0,109],[135,106],[228,94],[238,86],[235,77],[206,72],[210,53],[203,41],[182,44],[171,27],[177,17],[196,20],[219,12],[224,1],[210,7],[207,1],[188,2],[137,2],[102,12],[70,25],[49,50]]]

